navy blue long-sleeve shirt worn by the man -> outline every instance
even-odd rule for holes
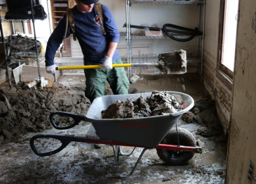
[[[100,26],[95,21],[95,17],[98,15],[95,6],[91,12],[81,13],[76,6],[72,8],[72,11],[75,21],[75,35],[82,50],[84,65],[102,64],[106,52],[109,49],[109,43],[118,43],[120,36],[111,11],[108,7],[102,5],[104,18],[102,24],[105,28],[106,35],[103,34]],[[46,66],[54,64],[54,55],[62,43],[63,35],[65,34],[66,17],[66,13],[63,14],[63,17],[60,19],[47,42]],[[67,37],[70,34],[70,27],[68,27]],[[116,60],[119,56],[116,50],[112,60]]]

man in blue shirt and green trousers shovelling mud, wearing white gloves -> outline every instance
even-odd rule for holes
[[[115,20],[109,8],[102,5],[104,26],[106,34],[100,27],[99,15],[94,4],[98,0],[75,0],[72,8],[75,35],[83,53],[84,65],[102,65],[103,68],[86,69],[86,97],[93,102],[96,97],[105,95],[105,81],[108,81],[115,95],[128,94],[129,79],[123,67],[112,68],[112,64],[122,64],[122,60],[116,50],[119,41],[119,32]],[[60,19],[57,27],[47,42],[46,48],[46,71],[54,74],[56,64],[54,55],[63,41],[66,31],[66,14]],[[71,34],[68,28],[67,36]]]

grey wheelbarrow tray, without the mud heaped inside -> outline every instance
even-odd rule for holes
[[[145,118],[101,119],[101,111],[117,100],[146,98],[152,93],[111,95],[96,98],[89,108],[86,117],[92,122],[101,140],[135,144],[144,147],[156,147],[177,123],[183,113],[194,106],[194,100],[189,95],[169,91],[168,94],[178,94],[186,102],[187,108],[170,114]]]

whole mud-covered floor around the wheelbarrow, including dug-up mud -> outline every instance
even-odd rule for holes
[[[178,127],[190,131],[203,147],[182,166],[168,166],[156,149],[145,151],[132,176],[121,178],[133,169],[142,148],[131,156],[120,156],[118,171],[113,148],[104,145],[71,142],[52,156],[37,156],[29,145],[36,134],[69,134],[97,138],[90,122],[80,122],[68,130],[52,128],[49,114],[68,111],[86,114],[90,101],[84,97],[84,76],[62,76],[53,88],[22,89],[0,86],[0,183],[209,183],[225,181],[227,140],[215,116],[214,101],[209,98],[197,74],[140,76],[130,85],[130,93],[179,91],[193,97],[195,106],[183,114]],[[20,84],[21,85],[21,84]],[[112,95],[107,85],[106,95]],[[136,135],[135,135],[136,136]],[[54,146],[45,143],[46,147]],[[131,147],[121,147],[131,152]]]

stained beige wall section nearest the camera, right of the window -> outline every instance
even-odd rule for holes
[[[227,164],[227,184],[250,183],[250,161],[256,165],[256,2],[240,0],[233,103]],[[254,27],[253,27],[254,25]],[[254,168],[254,175],[256,170]],[[255,183],[255,181],[252,181]]]

